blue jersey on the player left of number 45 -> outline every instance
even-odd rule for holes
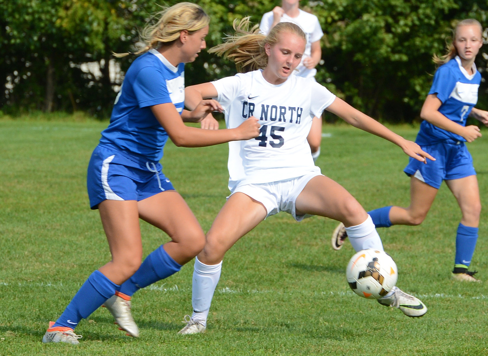
[[[100,144],[143,161],[159,161],[168,134],[150,106],[168,102],[182,113],[184,63],[175,67],[152,49],[134,60],[127,70]]]

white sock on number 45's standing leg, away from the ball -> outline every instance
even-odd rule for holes
[[[193,306],[192,320],[199,320],[206,326],[212,297],[219,283],[222,271],[222,261],[219,264],[207,265],[195,257],[195,269],[193,270],[193,287],[191,304]]]

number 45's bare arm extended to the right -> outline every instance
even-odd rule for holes
[[[361,111],[353,108],[342,99],[334,99],[332,104],[330,104],[326,110],[337,115],[354,127],[393,142],[399,146],[403,152],[412,158],[415,158],[421,162],[427,162],[426,158],[435,160],[435,158],[423,151],[415,142],[409,141],[400,135],[395,134],[393,131],[389,130],[375,119],[372,119],[366,114],[363,114]]]

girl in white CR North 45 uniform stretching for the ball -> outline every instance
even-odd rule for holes
[[[357,251],[383,250],[363,207],[314,165],[306,140],[313,115],[320,116],[326,109],[356,127],[397,144],[410,157],[420,161],[433,159],[416,143],[394,134],[322,85],[292,76],[305,49],[305,34],[299,26],[281,22],[264,36],[256,26],[250,32],[245,30],[247,24],[248,19],[237,27],[234,23],[236,35],[210,50],[234,60],[238,70],[244,73],[185,90],[185,104],[190,108],[202,98],[217,98],[224,107],[229,128],[249,117],[259,119],[262,126],[257,138],[229,145],[231,195],[195,260],[193,314],[185,317],[187,325],[181,334],[205,330],[225,252],[267,216],[286,211],[298,221],[311,215],[333,218],[347,226]],[[422,316],[427,312],[419,299],[396,287],[378,301],[398,307],[408,316]]]

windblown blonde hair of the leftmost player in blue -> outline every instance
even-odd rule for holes
[[[171,7],[163,8],[154,18],[160,18],[156,24],[148,25],[140,34],[142,44],[132,54],[139,55],[152,48],[171,44],[180,38],[180,32],[186,30],[192,34],[210,23],[210,17],[202,7],[192,2],[180,2]],[[124,57],[131,53],[114,53],[115,57]]]

